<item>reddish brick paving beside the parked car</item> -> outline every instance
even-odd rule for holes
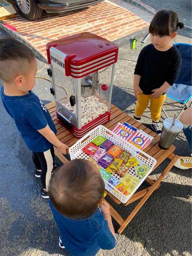
[[[147,27],[148,23],[142,17],[148,16],[148,13],[142,11],[138,17],[131,11],[139,13],[140,9],[131,6],[130,11],[130,6],[130,3],[122,0],[105,0],[81,11],[56,15],[44,13],[35,21],[26,20],[17,13],[6,22],[17,29],[13,33],[17,38],[24,40],[47,58],[46,44],[68,35],[89,31],[113,41]],[[149,18],[148,21],[150,20]]]

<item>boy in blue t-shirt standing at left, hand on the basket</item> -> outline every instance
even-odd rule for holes
[[[67,145],[56,137],[55,125],[43,102],[32,93],[37,61],[24,44],[14,38],[0,39],[1,98],[21,137],[32,151],[35,176],[41,177],[41,196],[49,198],[48,184],[54,165],[54,148],[66,154]]]

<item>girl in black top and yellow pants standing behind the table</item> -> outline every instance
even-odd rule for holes
[[[166,91],[179,75],[181,55],[171,43],[177,28],[184,27],[178,15],[169,10],[156,13],[149,26],[151,44],[145,46],[137,59],[134,72],[134,94],[137,98],[134,118],[141,119],[150,100],[151,128],[161,133],[159,124]]]

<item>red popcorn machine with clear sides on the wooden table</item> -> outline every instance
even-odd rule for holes
[[[56,119],[82,137],[110,119],[118,46],[89,32],[47,44]]]

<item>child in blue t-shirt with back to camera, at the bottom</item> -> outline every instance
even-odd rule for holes
[[[116,245],[104,191],[98,169],[88,160],[72,160],[52,175],[49,205],[60,232],[59,246],[72,256],[95,256],[100,248]]]

